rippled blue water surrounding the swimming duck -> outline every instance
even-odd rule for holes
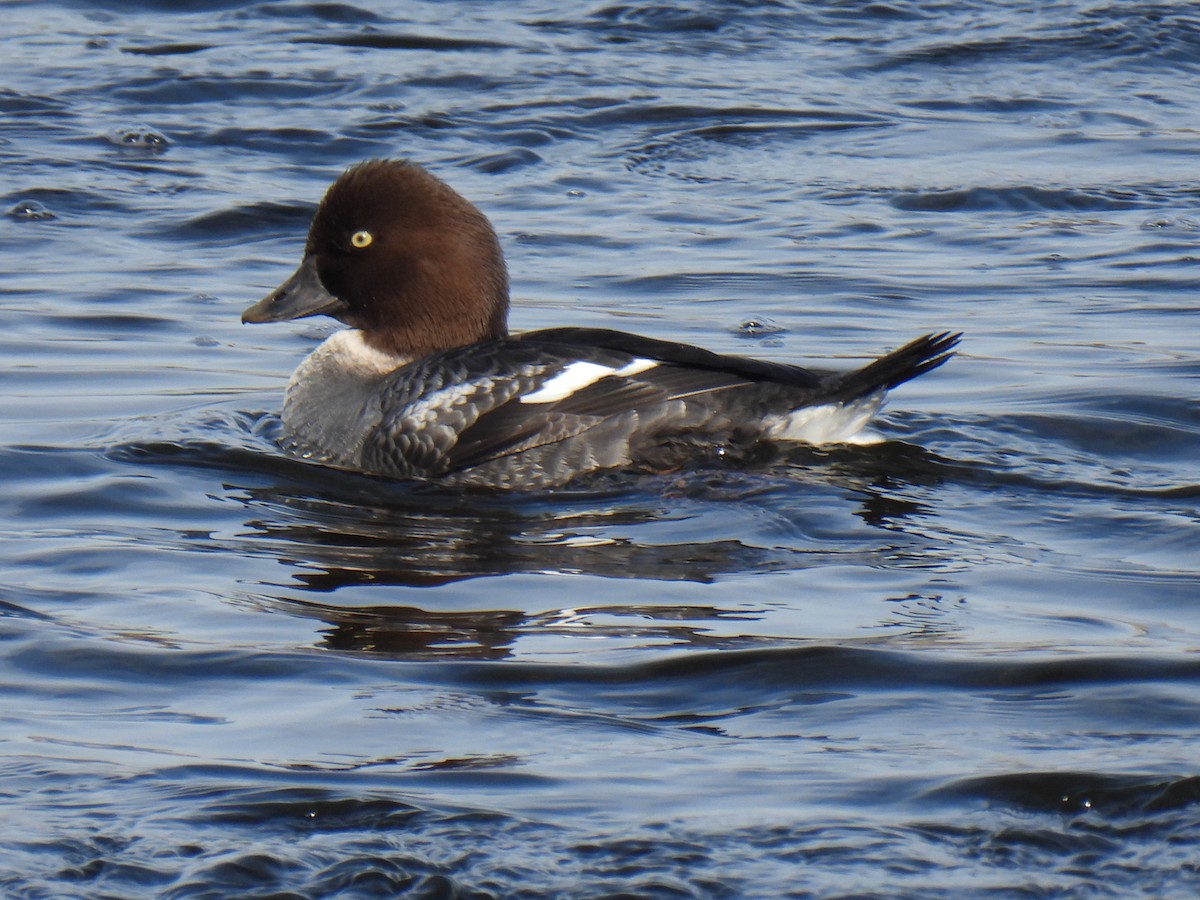
[[[1200,890],[1190,4],[4,12],[0,892]],[[239,313],[389,155],[516,328],[962,350],[746,472],[287,460]]]

